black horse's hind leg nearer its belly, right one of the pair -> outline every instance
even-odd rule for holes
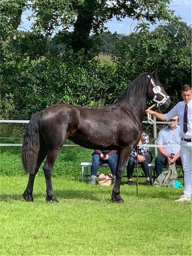
[[[53,191],[53,186],[52,186],[52,170],[53,170],[53,166],[56,160],[56,157],[59,153],[60,148],[58,149],[54,149],[54,150],[49,150],[48,154],[47,154],[47,159],[45,162],[45,165],[43,166],[43,171],[45,174],[45,181],[46,181],[46,186],[47,186],[47,196],[46,196],[46,201],[52,201],[52,202],[59,202],[55,195],[54,195],[54,191]]]

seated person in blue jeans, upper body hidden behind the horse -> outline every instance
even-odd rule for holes
[[[108,163],[111,173],[113,174],[113,183],[115,182],[115,172],[117,167],[117,158],[118,151],[117,150],[94,150],[93,153],[93,162],[91,165],[90,171],[90,184],[95,185],[97,172],[99,170],[99,166],[103,163]]]

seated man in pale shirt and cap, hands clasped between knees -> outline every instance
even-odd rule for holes
[[[173,164],[176,162],[177,165],[181,165],[181,137],[179,136],[180,127],[177,125],[178,116],[175,116],[169,122],[172,123],[161,129],[157,136],[157,144],[167,145],[167,147],[158,147],[160,155],[155,159],[156,177],[163,172],[163,165],[167,165],[167,163]]]

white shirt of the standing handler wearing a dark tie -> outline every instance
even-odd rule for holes
[[[188,113],[187,113],[187,132],[183,132],[183,116],[185,110],[185,101],[178,102],[173,109],[171,109],[167,114],[165,114],[166,121],[172,119],[174,116],[178,116],[180,124],[180,137],[181,138],[192,138],[192,100],[187,103]]]

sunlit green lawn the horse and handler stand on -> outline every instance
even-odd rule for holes
[[[45,202],[38,175],[34,202],[24,202],[28,176],[0,178],[0,255],[191,255],[191,203],[174,202],[183,188],[112,187],[54,177],[59,204]]]

